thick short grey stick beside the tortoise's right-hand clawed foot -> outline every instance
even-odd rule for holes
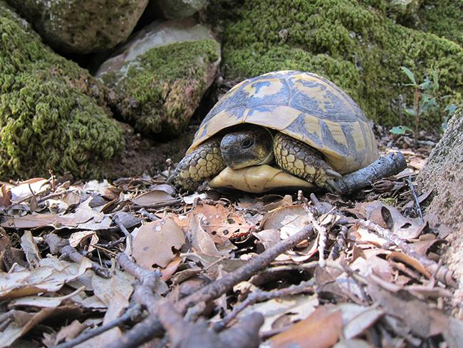
[[[405,168],[407,168],[405,157],[400,151],[397,151],[396,153],[389,153],[380,157],[365,168],[343,175],[343,178],[334,181],[340,189],[340,194],[348,195],[366,188],[368,185],[374,183],[375,180],[400,173]]]

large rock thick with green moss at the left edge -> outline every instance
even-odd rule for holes
[[[0,176],[99,176],[124,145],[105,106],[108,91],[41,43],[0,1]]]

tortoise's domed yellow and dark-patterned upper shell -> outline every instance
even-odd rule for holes
[[[272,128],[311,145],[341,174],[378,158],[363,111],[338,86],[315,73],[274,71],[238,83],[209,111],[187,153],[241,123]]]

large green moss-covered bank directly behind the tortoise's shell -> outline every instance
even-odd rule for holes
[[[463,87],[463,49],[393,23],[386,10],[385,1],[379,0],[245,1],[225,25],[225,76],[239,80],[278,69],[320,73],[349,93],[374,121],[397,126],[400,94],[412,103],[400,66],[410,68],[419,80],[436,68],[439,92],[453,96]],[[436,115],[420,126],[440,122]],[[412,123],[412,118],[405,120]]]

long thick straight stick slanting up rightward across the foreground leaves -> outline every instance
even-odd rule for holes
[[[246,265],[238,268],[234,272],[222,277],[219,280],[203,287],[201,290],[194,292],[192,295],[184,297],[177,302],[177,310],[185,312],[188,307],[197,302],[204,302],[207,300],[214,300],[223,295],[225,292],[231,290],[234,285],[249,279],[252,275],[267,267],[278,255],[290,250],[302,240],[305,240],[313,235],[312,225],[303,227],[296,234],[292,235],[286,240],[282,240],[273,247],[264,251],[261,255],[254,257]],[[160,336],[164,332],[160,320],[150,315],[140,324],[135,325],[130,331],[123,334],[117,342],[112,343],[113,348],[131,348],[138,347],[140,344],[147,342],[153,337]]]

